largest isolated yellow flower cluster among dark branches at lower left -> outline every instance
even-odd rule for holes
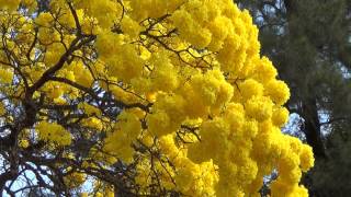
[[[56,123],[39,121],[35,129],[41,140],[54,142],[58,146],[69,146],[71,143],[70,132]]]

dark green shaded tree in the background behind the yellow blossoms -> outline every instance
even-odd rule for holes
[[[314,149],[316,167],[305,182],[313,196],[343,196],[351,185],[350,1],[239,2],[254,15],[261,53],[291,88],[295,134]]]

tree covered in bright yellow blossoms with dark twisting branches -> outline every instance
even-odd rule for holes
[[[1,193],[259,196],[274,171],[271,196],[308,195],[288,88],[231,0],[0,0],[0,26]]]

